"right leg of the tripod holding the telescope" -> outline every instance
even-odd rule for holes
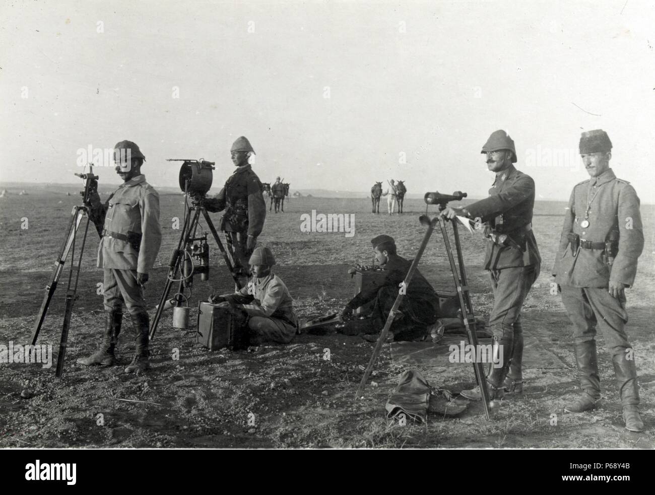
[[[466,333],[468,334],[468,343],[473,346],[474,354],[475,354],[479,348],[477,345],[477,334],[476,334],[476,327],[475,327],[476,318],[473,314],[472,304],[468,294],[468,287],[466,287],[466,285],[462,287],[462,283],[460,282],[457,276],[457,266],[455,266],[453,249],[451,249],[450,240],[448,238],[448,231],[446,229],[445,220],[443,219],[443,217],[439,217],[439,223],[441,227],[441,234],[443,235],[443,243],[445,244],[446,253],[448,254],[448,261],[450,262],[451,265],[451,272],[453,272],[453,280],[455,280],[455,287],[457,287],[457,295],[459,296],[459,305],[460,308],[462,309],[464,326],[466,327]],[[455,239],[458,240],[457,227],[455,227],[454,225],[453,227],[456,229]],[[463,274],[464,262],[461,261],[462,252],[458,242],[457,242],[457,248],[458,248],[457,257],[460,260],[460,263],[462,263],[462,265],[460,265],[460,272]],[[487,388],[487,378],[485,376],[484,369],[482,367],[482,363],[480,362],[479,356],[474,355],[473,358],[474,358],[473,369],[476,374],[477,384],[480,387],[480,394],[482,395],[482,403],[485,408],[485,417],[489,420],[491,419],[491,416],[489,414],[489,388]]]

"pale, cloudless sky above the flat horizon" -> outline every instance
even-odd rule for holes
[[[5,1],[0,181],[75,183],[135,141],[155,187],[179,163],[296,189],[485,196],[483,143],[506,130],[541,199],[588,178],[602,128],[616,175],[655,202],[655,12],[619,1]],[[118,184],[96,155],[103,184]]]

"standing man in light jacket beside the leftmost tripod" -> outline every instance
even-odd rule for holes
[[[77,359],[85,366],[113,365],[121,332],[122,304],[125,303],[136,330],[136,354],[125,373],[150,367],[148,330],[150,321],[143,299],[143,284],[155,263],[162,236],[159,227],[159,194],[145,181],[141,166],[145,156],[132,141],[121,141],[114,149],[116,173],[124,183],[100,203],[96,191],[91,196],[90,216],[103,225],[98,246],[98,268],[104,270],[104,305],[107,312],[102,344],[88,358]]]

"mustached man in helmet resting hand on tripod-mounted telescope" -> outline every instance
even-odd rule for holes
[[[462,215],[485,222],[485,237],[489,240],[485,269],[491,274],[494,295],[489,316],[493,357],[504,358],[502,366],[491,367],[487,375],[491,399],[495,399],[504,392],[523,392],[521,306],[539,276],[541,257],[532,231],[534,181],[514,168],[514,141],[505,131],[497,130],[481,153],[487,155],[487,168],[496,174],[489,198],[466,208],[446,208],[441,215],[449,219]],[[470,400],[481,398],[479,386],[461,395]]]

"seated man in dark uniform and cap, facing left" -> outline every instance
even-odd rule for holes
[[[384,268],[384,272],[375,281],[373,288],[364,290],[353,297],[346,304],[341,315],[344,320],[350,320],[353,310],[375,300],[373,312],[371,312],[369,333],[377,333],[383,329],[386,318],[398,297],[400,284],[407,276],[411,261],[398,256],[396,242],[390,236],[377,236],[371,240],[371,244],[373,244],[375,258]],[[413,278],[407,285],[406,294],[398,310],[400,314],[396,314],[396,318],[394,318],[388,340],[421,339],[426,335],[428,325],[437,321],[439,297],[419,270],[414,272]],[[350,333],[349,326],[356,327],[349,323],[351,322],[346,321],[344,333]]]

